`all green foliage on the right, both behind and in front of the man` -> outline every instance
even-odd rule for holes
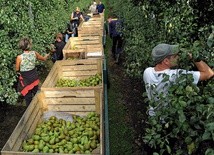
[[[154,65],[151,51],[158,43],[180,45],[179,68],[195,70],[189,53],[214,68],[214,9],[210,1],[110,0],[110,4],[112,12],[124,20],[125,67],[129,76],[142,78],[144,69]],[[158,104],[168,105],[149,118],[143,140],[154,154],[212,154],[209,144],[201,150],[200,146],[214,140],[213,79],[198,86],[189,76],[180,80],[170,89],[168,98],[161,94]],[[149,103],[148,99],[145,102]]]

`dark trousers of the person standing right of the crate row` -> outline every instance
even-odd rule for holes
[[[121,36],[112,37],[112,54],[120,54],[122,52],[123,39]]]

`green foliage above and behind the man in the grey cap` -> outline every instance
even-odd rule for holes
[[[193,1],[189,3],[193,4]],[[129,76],[142,77],[143,69],[153,65],[150,53],[160,42],[179,44],[194,52],[192,46],[199,41],[200,54],[213,66],[212,22],[200,23],[196,6],[191,7],[189,3],[146,0],[135,1],[134,5],[129,0],[110,1],[112,12],[125,23],[125,66]]]

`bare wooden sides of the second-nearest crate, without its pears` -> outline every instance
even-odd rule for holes
[[[54,94],[59,95],[59,93],[61,94],[60,97],[67,96],[66,94],[70,90],[75,90],[76,87],[56,87],[58,79],[87,79],[97,73],[102,75],[102,69],[103,60],[99,58],[56,61],[42,84],[41,91],[46,97],[48,94],[52,94],[54,97]],[[80,89],[103,89],[103,84],[94,87],[80,87]]]

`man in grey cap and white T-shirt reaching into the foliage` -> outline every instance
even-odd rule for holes
[[[181,74],[192,74],[193,83],[208,80],[214,76],[213,70],[204,61],[194,61],[198,71],[187,71],[184,69],[172,69],[178,61],[178,45],[158,44],[152,50],[154,67],[148,67],[143,73],[143,80],[148,98],[158,100],[158,95],[167,94],[171,82],[174,82]],[[190,59],[192,56],[190,55]],[[164,76],[168,75],[169,80],[164,81]]]

